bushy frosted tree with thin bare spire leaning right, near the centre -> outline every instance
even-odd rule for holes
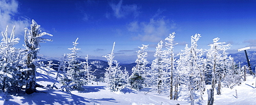
[[[114,47],[115,42],[111,51],[111,54],[103,56],[107,59],[109,67],[106,68],[105,82],[111,91],[120,91],[126,86],[125,75],[119,66],[119,63],[114,60]],[[115,64],[115,65],[113,65]]]

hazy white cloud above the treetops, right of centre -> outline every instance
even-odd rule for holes
[[[168,19],[151,18],[149,22],[133,21],[128,24],[127,30],[134,32],[136,29],[138,33],[137,36],[133,37],[134,40],[149,41],[149,42],[159,42],[171,33],[170,30],[175,29],[176,24],[169,21]]]

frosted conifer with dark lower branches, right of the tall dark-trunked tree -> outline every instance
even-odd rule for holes
[[[84,63],[77,60],[79,56],[77,56],[78,50],[77,42],[78,38],[75,42],[73,42],[74,47],[68,48],[72,51],[71,54],[68,54],[68,70],[66,72],[66,76],[63,76],[61,84],[62,89],[66,89],[67,92],[70,93],[71,90],[82,90],[82,86],[85,84],[85,74],[86,72],[83,69]]]

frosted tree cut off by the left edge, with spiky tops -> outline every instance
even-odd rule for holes
[[[5,33],[2,32],[3,39],[0,46],[0,87],[5,92],[18,93],[22,91],[25,85],[24,76],[20,67],[23,56],[20,49],[16,49],[13,45],[17,44],[19,38],[15,38],[15,26],[12,29],[10,37],[8,36],[8,25]]]

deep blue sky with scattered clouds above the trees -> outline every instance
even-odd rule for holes
[[[230,53],[250,46],[256,49],[256,2],[254,1],[0,1],[0,32],[16,25],[16,36],[24,44],[24,28],[34,19],[53,42],[41,43],[40,54],[49,59],[71,53],[78,37],[78,55],[101,59],[113,42],[115,59],[136,60],[141,44],[148,44],[148,61],[154,59],[160,40],[176,33],[175,52],[190,44],[190,36],[201,34],[199,48],[209,48],[212,39],[231,43]]]

